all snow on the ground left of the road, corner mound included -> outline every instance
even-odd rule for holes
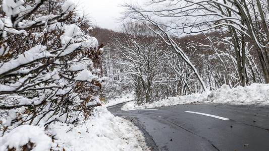
[[[50,136],[50,137],[49,137]],[[51,137],[53,139],[51,139]],[[88,120],[74,126],[60,122],[43,127],[21,125],[0,137],[0,150],[34,143],[32,150],[150,150],[138,127],[115,117],[106,107],[96,107]]]

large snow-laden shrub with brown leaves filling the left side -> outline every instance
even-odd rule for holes
[[[103,79],[94,64],[100,55],[98,42],[86,31],[88,20],[76,15],[74,8],[74,3],[64,0],[3,0],[2,135],[24,124],[76,124],[88,117],[89,108],[100,105]]]

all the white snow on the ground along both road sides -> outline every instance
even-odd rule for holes
[[[18,148],[28,141],[35,143],[33,150],[146,150],[145,138],[138,127],[121,117],[115,117],[105,106],[133,100],[133,95],[111,100],[102,107],[96,107],[88,120],[74,126],[60,122],[42,127],[22,125],[3,137],[0,137],[0,150],[7,146]],[[220,89],[202,94],[170,97],[165,100],[135,106],[131,101],[123,106],[123,110],[154,108],[159,106],[222,103],[234,105],[269,105],[269,84],[252,84],[246,87],[230,89],[224,85]],[[50,137],[53,139],[51,140]],[[53,143],[52,143],[53,142]],[[40,149],[41,148],[41,149]],[[64,149],[63,149],[64,148]]]

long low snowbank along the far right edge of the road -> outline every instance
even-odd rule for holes
[[[220,89],[202,94],[191,94],[186,96],[169,97],[168,99],[137,106],[129,102],[122,107],[122,110],[136,110],[154,108],[160,106],[192,104],[192,103],[221,103],[233,105],[269,105],[269,84],[252,84],[246,87],[230,89],[223,85]]]

